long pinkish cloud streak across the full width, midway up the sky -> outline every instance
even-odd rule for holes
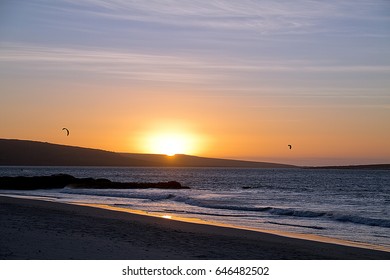
[[[389,65],[337,65],[324,61],[162,55],[118,49],[1,44],[0,61],[38,65],[37,69],[88,71],[117,78],[208,83],[240,74],[261,73],[390,73]]]

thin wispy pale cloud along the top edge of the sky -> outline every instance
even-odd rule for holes
[[[46,8],[113,20],[158,23],[180,27],[305,32],[323,19],[366,16],[377,8],[370,1],[274,0],[64,0]],[[54,3],[54,4],[53,4]],[[377,4],[377,3],[376,3]],[[380,6],[377,4],[377,6]]]

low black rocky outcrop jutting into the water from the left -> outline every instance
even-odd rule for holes
[[[0,177],[0,189],[2,190],[58,189],[64,187],[83,189],[189,189],[176,181],[158,183],[112,182],[108,179],[75,178],[68,174]]]

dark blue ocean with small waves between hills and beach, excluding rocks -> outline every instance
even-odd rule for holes
[[[190,189],[14,191],[257,230],[313,234],[390,250],[390,172],[341,169],[0,167],[0,176],[59,173],[118,182],[178,181]]]

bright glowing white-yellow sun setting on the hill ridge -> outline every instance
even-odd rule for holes
[[[190,154],[193,151],[193,141],[187,135],[156,134],[151,135],[148,142],[148,151],[153,154],[174,156],[176,154]]]

